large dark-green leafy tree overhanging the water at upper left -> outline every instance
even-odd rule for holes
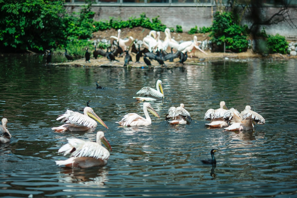
[[[0,48],[43,51],[66,44],[62,1],[0,0]]]

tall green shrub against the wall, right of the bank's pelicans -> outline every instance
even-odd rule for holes
[[[217,12],[211,27],[214,51],[244,52],[248,48],[247,26],[241,26],[231,12]]]

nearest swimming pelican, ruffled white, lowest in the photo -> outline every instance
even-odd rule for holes
[[[71,153],[71,157],[66,160],[56,161],[57,165],[65,165],[69,168],[88,168],[107,164],[110,153],[101,145],[101,142],[110,151],[112,149],[102,131],[97,132],[96,142],[84,141],[78,138],[67,138],[67,140],[68,143],[62,146],[58,152],[65,152],[64,156]]]

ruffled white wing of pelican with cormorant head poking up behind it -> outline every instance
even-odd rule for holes
[[[57,118],[57,121],[76,124],[78,126],[86,126],[89,128],[94,128],[97,126],[96,121],[94,121],[89,116],[68,109],[63,115],[60,115]]]

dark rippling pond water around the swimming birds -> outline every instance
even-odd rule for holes
[[[54,61],[64,60],[54,57]],[[10,144],[0,145],[1,197],[297,197],[296,60],[225,60],[173,69],[46,66],[39,55],[0,58],[0,118]],[[160,115],[146,127],[119,127],[126,113],[143,115],[133,96],[163,82],[165,98],[151,102]],[[96,89],[95,82],[107,87]],[[109,129],[56,133],[58,115],[90,106]],[[242,111],[266,119],[254,131],[207,129],[206,110]],[[185,104],[189,125],[165,115]],[[102,130],[113,151],[104,167],[69,169],[55,160],[66,138],[95,141]],[[217,166],[200,160],[215,153]]]

